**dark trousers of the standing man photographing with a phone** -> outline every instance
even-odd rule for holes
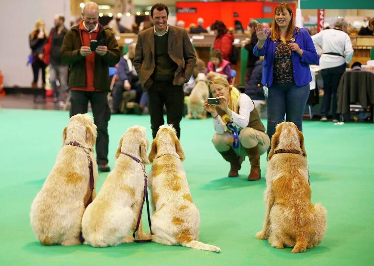
[[[93,121],[97,126],[96,161],[97,164],[108,163],[108,121],[110,109],[108,92],[70,90],[70,117],[77,113],[87,113],[88,101],[91,103]]]

